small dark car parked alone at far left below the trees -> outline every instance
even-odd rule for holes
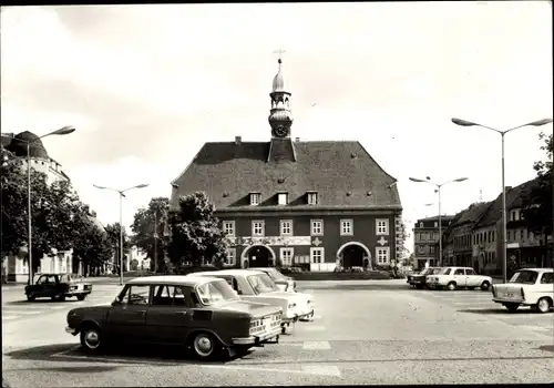
[[[84,282],[75,274],[42,274],[33,285],[25,286],[27,300],[37,298],[52,298],[63,302],[65,298],[76,297],[84,300],[92,293],[92,284]]]

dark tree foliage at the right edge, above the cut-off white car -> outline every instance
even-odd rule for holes
[[[523,217],[527,222],[529,231],[536,235],[552,234],[552,216],[553,216],[553,135],[541,133],[540,139],[543,141],[541,150],[546,153],[545,161],[537,161],[533,169],[536,171],[535,184],[523,193]]]

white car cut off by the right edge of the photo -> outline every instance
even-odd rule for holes
[[[554,307],[553,268],[526,268],[515,272],[506,284],[492,286],[495,303],[502,304],[509,312],[520,306],[547,313]]]

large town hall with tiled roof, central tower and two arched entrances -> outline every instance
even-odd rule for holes
[[[357,141],[293,141],[291,94],[279,71],[267,142],[206,143],[172,182],[205,192],[227,233],[228,266],[373,267],[401,255],[397,180]]]

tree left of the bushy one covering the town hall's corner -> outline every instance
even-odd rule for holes
[[[168,236],[165,236],[170,198],[152,198],[146,208],[135,213],[133,225],[133,243],[151,257],[151,270],[164,269],[164,252],[166,251]],[[157,259],[157,263],[155,262]]]

